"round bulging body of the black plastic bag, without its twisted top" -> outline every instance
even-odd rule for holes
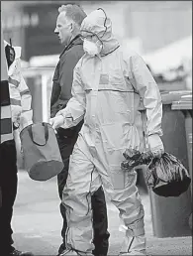
[[[161,196],[179,196],[186,192],[191,179],[186,168],[173,155],[164,153],[148,166],[146,185]]]

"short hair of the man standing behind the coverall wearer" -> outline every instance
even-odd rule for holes
[[[65,17],[71,19],[77,25],[81,26],[82,21],[87,16],[83,9],[77,4],[65,4],[58,8],[58,12],[65,12]]]

